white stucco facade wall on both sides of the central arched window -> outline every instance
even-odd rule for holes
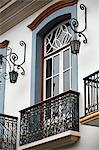
[[[84,94],[83,78],[97,71],[99,68],[99,1],[98,0],[79,0],[78,2],[78,20],[80,22],[79,30],[83,28],[84,15],[79,9],[83,3],[87,7],[87,30],[84,32],[88,43],[81,44],[80,53],[78,54],[78,91],[80,92],[80,116],[84,115]],[[51,3],[49,4],[51,5]],[[46,7],[48,7],[47,5]],[[30,106],[30,82],[31,82],[31,52],[32,52],[32,32],[27,25],[36,18],[42,8],[32,16],[28,17],[0,37],[0,41],[5,39],[10,41],[9,46],[19,54],[21,48],[18,46],[20,40],[26,42],[26,63],[24,68],[25,76],[19,76],[16,84],[6,82],[5,90],[5,113],[19,116],[19,110]],[[81,38],[81,41],[83,38]],[[19,49],[18,49],[19,47]],[[73,146],[65,147],[64,150],[99,150],[99,128],[80,125],[81,138]],[[60,149],[59,149],[60,150]]]

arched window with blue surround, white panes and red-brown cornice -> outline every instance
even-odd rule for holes
[[[33,36],[31,105],[69,89],[77,91],[78,58],[70,48],[74,33],[66,25],[77,18],[76,3],[57,2],[28,25]]]

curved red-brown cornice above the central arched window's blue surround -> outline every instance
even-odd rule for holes
[[[61,0],[51,6],[49,6],[46,10],[44,10],[32,23],[30,23],[27,27],[31,30],[34,30],[46,17],[48,17],[53,12],[67,6],[72,6],[76,4],[78,0]]]

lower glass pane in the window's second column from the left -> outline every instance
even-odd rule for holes
[[[53,78],[53,96],[59,93],[59,76]]]

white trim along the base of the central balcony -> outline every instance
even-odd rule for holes
[[[34,146],[37,146],[37,145],[40,145],[40,144],[44,144],[44,143],[47,143],[47,142],[51,142],[53,140],[57,140],[57,139],[60,139],[60,138],[63,138],[63,137],[67,137],[67,136],[70,136],[70,135],[80,137],[79,132],[69,130],[69,131],[66,131],[66,132],[63,132],[63,133],[60,133],[60,134],[56,134],[56,135],[44,138],[42,140],[38,140],[38,141],[29,143],[29,144],[25,144],[23,146],[19,146],[19,150],[23,150],[23,149],[26,149],[26,148],[29,148],[29,147],[34,147]]]

